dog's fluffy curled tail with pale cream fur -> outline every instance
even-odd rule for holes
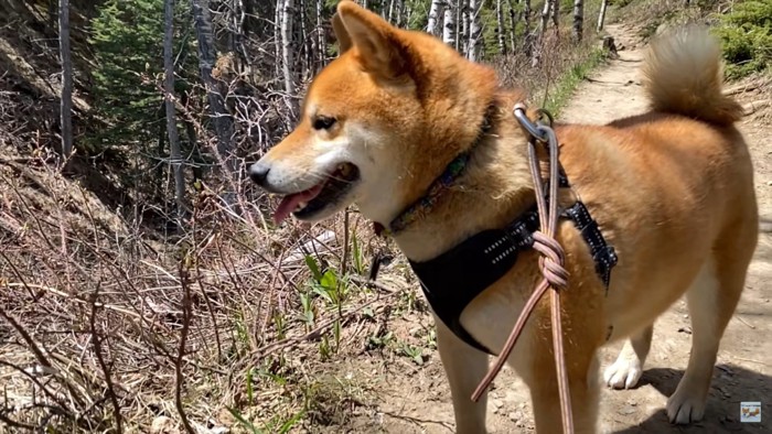
[[[652,42],[643,64],[652,109],[730,126],[743,110],[723,95],[721,48],[707,29],[690,25]]]

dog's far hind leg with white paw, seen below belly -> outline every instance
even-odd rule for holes
[[[631,336],[613,365],[603,371],[603,380],[614,389],[630,389],[637,384],[643,375],[643,365],[652,347],[654,326],[650,325]]]

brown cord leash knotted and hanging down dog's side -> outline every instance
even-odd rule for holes
[[[567,286],[568,272],[564,268],[565,252],[560,243],[555,239],[555,231],[558,221],[558,171],[559,171],[559,149],[558,140],[555,131],[551,129],[553,117],[549,112],[539,109],[540,117],[546,116],[549,124],[537,121],[532,122],[526,116],[526,108],[523,104],[515,105],[513,113],[521,126],[528,131],[530,138],[528,140],[528,163],[530,166],[530,175],[534,180],[534,192],[536,194],[536,206],[538,208],[540,223],[539,230],[534,232],[534,249],[542,257],[539,258],[539,269],[544,279],[536,286],[536,290],[526,302],[521,312],[514,328],[502,348],[502,352],[494,362],[491,370],[478,386],[478,389],[472,394],[472,401],[478,401],[483,392],[489,388],[493,379],[498,375],[502,367],[510,358],[510,354],[517,341],[525,323],[536,307],[536,304],[542,299],[547,290],[551,289],[550,293],[550,312],[553,326],[553,350],[555,352],[555,366],[558,376],[558,391],[560,395],[560,414],[562,417],[562,430],[566,434],[573,433],[573,415],[571,411],[571,399],[568,388],[568,372],[566,371],[566,358],[562,345],[562,324],[560,321],[560,291]],[[549,152],[549,176],[548,185],[545,188],[539,173],[539,161],[536,154],[537,142],[543,143]]]

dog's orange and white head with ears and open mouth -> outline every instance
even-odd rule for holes
[[[387,223],[439,175],[454,143],[476,134],[485,101],[474,88],[495,76],[351,1],[339,3],[333,30],[339,57],[311,83],[296,129],[249,175],[285,195],[277,221],[317,221],[356,203]]]

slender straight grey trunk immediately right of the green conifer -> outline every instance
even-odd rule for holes
[[[172,44],[174,43],[174,0],[165,0],[164,3],[163,90],[165,94],[170,163],[174,173],[174,202],[176,203],[176,216],[181,218],[185,213],[185,176],[182,173],[182,152],[180,152],[180,137],[176,131],[176,111],[174,109],[174,58],[172,53]]]

